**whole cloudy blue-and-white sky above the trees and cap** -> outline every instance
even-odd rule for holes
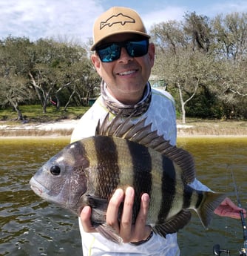
[[[87,42],[95,19],[112,6],[135,9],[146,29],[185,13],[214,17],[247,12],[247,0],[0,0],[0,39],[25,36]]]

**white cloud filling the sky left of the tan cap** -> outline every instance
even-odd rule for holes
[[[0,38],[67,36],[85,41],[103,9],[93,0],[0,0]]]

